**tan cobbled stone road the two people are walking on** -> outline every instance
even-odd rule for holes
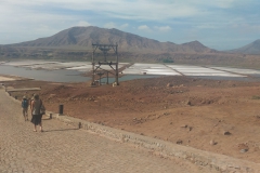
[[[179,159],[164,159],[43,118],[44,132],[32,132],[20,103],[0,88],[1,173],[190,173],[212,172]]]

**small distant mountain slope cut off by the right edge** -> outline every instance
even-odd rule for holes
[[[239,49],[231,50],[232,53],[260,54],[260,39]]]

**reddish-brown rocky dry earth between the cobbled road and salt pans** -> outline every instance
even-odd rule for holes
[[[89,83],[5,81],[41,86],[48,110],[202,150],[260,162],[260,82],[161,77],[90,88]],[[13,96],[31,96],[15,92]]]

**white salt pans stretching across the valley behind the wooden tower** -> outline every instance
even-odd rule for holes
[[[119,63],[118,68],[128,63]],[[80,72],[91,71],[91,62],[52,62],[52,61],[17,61],[1,62],[1,65],[26,67],[30,69],[72,69]],[[96,65],[95,67],[98,67]],[[112,66],[116,68],[115,66]],[[102,65],[102,69],[110,70],[107,65]],[[260,70],[218,67],[218,66],[194,66],[194,65],[176,65],[176,64],[141,64],[135,63],[122,70],[125,75],[159,75],[159,76],[216,76],[216,77],[247,77],[248,75],[260,75]]]

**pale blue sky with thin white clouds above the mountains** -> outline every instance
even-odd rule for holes
[[[96,26],[232,50],[260,39],[259,8],[259,0],[0,0],[0,44]]]

